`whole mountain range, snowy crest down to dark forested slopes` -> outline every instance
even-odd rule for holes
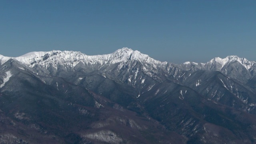
[[[256,62],[129,48],[0,55],[0,143],[256,144]]]

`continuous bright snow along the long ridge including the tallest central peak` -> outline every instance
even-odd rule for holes
[[[33,67],[34,64],[40,64],[46,68],[49,65],[57,68],[58,64],[74,67],[79,62],[92,65],[104,65],[115,64],[119,62],[125,63],[128,60],[138,60],[139,62],[146,62],[147,64],[152,64],[154,68],[156,68],[158,64],[160,64],[160,66],[164,66],[167,64],[167,62],[160,62],[158,60],[154,60],[146,54],[141,54],[139,51],[134,51],[129,48],[118,49],[111,54],[94,56],[88,56],[86,54],[82,54],[81,52],[60,50],[52,50],[49,52],[29,52],[14,59],[30,67]]]

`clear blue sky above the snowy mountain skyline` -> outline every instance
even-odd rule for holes
[[[167,62],[256,61],[256,0],[0,0],[0,54],[123,47]]]

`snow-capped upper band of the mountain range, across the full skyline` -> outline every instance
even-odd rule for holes
[[[6,62],[10,57],[0,56],[1,64]],[[247,82],[250,78],[256,76],[256,63],[250,62],[245,58],[239,58],[238,56],[227,56],[226,58],[213,58],[209,62],[206,63],[196,63],[196,62],[185,62],[183,64],[172,64],[168,62],[160,62],[158,60],[154,60],[150,58],[146,54],[141,54],[137,50],[133,51],[129,48],[122,48],[116,50],[112,54],[104,54],[104,55],[96,55],[96,56],[88,56],[86,54],[82,54],[81,52],[73,52],[73,51],[58,51],[53,50],[50,52],[30,52],[28,54],[24,54],[23,56],[19,56],[16,58],[19,62],[22,62],[26,66],[31,68],[45,68],[45,72],[55,73],[56,70],[60,67],[64,67],[67,71],[73,71],[74,67],[79,65],[84,65],[86,67],[90,67],[91,70],[106,70],[106,67],[110,65],[117,64],[117,70],[121,70],[122,68],[134,68],[132,64],[134,61],[142,64],[140,71],[144,72],[150,77],[155,76],[158,81],[161,81],[162,76],[156,76],[158,73],[162,73],[163,75],[172,75],[174,78],[178,78],[181,76],[178,74],[182,70],[196,71],[196,70],[210,70],[210,71],[221,71],[234,78],[234,74],[232,72],[234,70],[229,70],[229,65],[233,63],[239,63],[236,66],[238,69],[237,73],[240,75],[246,75],[246,78],[241,79],[242,82]],[[239,68],[238,68],[239,67]],[[245,70],[243,70],[245,68]],[[179,70],[178,70],[179,69]],[[178,70],[178,71],[177,71]],[[113,70],[111,70],[113,71]]]

